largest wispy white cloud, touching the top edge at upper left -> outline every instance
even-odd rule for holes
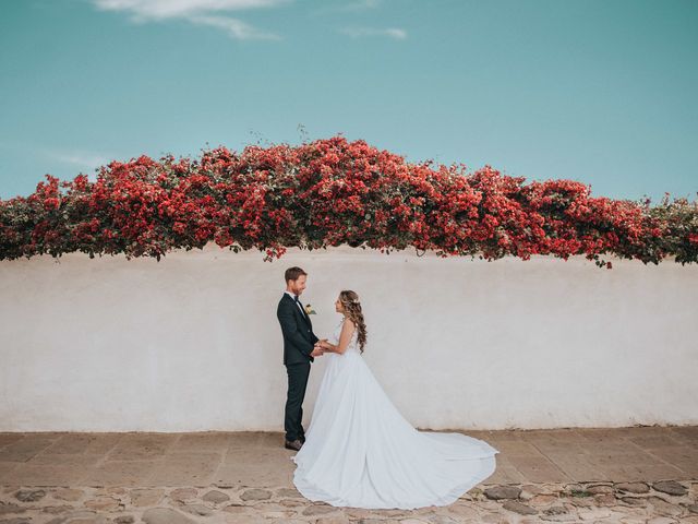
[[[101,11],[128,13],[135,23],[185,20],[196,25],[224,29],[237,39],[274,39],[280,37],[225,13],[245,9],[269,8],[289,0],[92,0]]]

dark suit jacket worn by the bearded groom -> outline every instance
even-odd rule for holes
[[[276,317],[284,334],[284,365],[314,361],[310,354],[318,338],[313,333],[313,324],[287,293],[279,300]]]

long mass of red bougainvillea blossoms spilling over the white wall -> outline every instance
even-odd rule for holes
[[[29,196],[0,200],[0,260],[82,251],[155,257],[172,249],[349,245],[413,247],[494,260],[604,254],[659,263],[698,258],[697,202],[594,198],[571,180],[525,183],[485,166],[409,164],[342,136],[299,146],[218,147],[197,160],[112,162],[96,181],[46,176]]]

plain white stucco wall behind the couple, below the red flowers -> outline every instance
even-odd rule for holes
[[[698,424],[698,266],[209,245],[0,262],[0,431],[282,430],[284,271],[327,335],[359,293],[369,366],[432,429]],[[304,422],[325,362],[311,369]]]

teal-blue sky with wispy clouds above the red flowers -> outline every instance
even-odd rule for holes
[[[2,0],[0,198],[341,133],[657,202],[698,191],[698,1]]]

